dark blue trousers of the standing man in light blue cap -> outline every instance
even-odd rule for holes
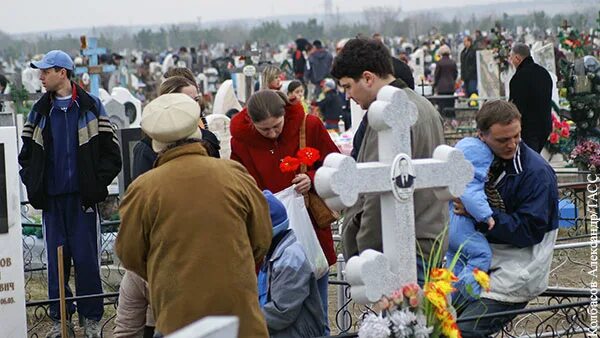
[[[96,208],[83,210],[79,194],[50,196],[48,208],[43,211],[44,239],[48,257],[48,297],[59,298],[58,253],[63,245],[65,272],[65,295],[72,297],[68,285],[71,275],[71,259],[75,265],[75,290],[78,296],[102,293],[100,281],[99,236],[100,222]],[[104,314],[101,298],[77,301],[81,316],[100,321]],[[75,313],[75,305],[68,302],[69,317]],[[58,303],[50,305],[50,317],[60,319]]]

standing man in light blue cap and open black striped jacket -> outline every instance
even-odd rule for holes
[[[59,296],[57,248],[61,245],[67,297],[72,296],[68,287],[71,259],[77,295],[99,294],[96,203],[106,198],[106,187],[121,170],[119,144],[100,100],[71,82],[73,61],[69,55],[53,50],[31,67],[41,70],[40,80],[47,92],[34,104],[23,127],[19,164],[29,202],[43,210],[48,297]],[[86,337],[100,337],[102,299],[78,301],[77,310]],[[70,303],[69,316],[74,312]],[[58,303],[50,306],[50,316],[55,325],[47,337],[60,337]]]

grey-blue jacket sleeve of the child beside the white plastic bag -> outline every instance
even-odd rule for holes
[[[285,264],[280,269],[273,269],[271,275],[270,298],[262,308],[269,331],[280,331],[292,325],[310,294],[312,271],[304,264],[306,258],[293,251],[286,250],[289,257],[282,258]]]

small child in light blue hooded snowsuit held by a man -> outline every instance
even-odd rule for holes
[[[483,223],[487,225],[488,230],[491,230],[495,224],[485,193],[485,183],[494,160],[494,154],[483,141],[475,137],[465,137],[455,147],[460,149],[465,158],[473,164],[475,176],[460,197],[465,210],[471,217],[455,214],[452,202],[450,203],[450,238],[446,264],[450,265],[462,245],[460,258],[453,269],[459,279],[454,286],[463,297],[472,300],[475,298],[473,296],[481,293],[481,286],[475,281],[473,270],[478,268],[488,272],[492,262],[492,250],[489,243],[485,236],[477,231],[476,226],[478,223]]]

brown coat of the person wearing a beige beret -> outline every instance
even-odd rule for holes
[[[235,315],[240,337],[268,336],[254,267],[272,226],[244,167],[208,157],[199,143],[173,148],[129,186],[119,211],[116,252],[148,281],[158,331]]]

